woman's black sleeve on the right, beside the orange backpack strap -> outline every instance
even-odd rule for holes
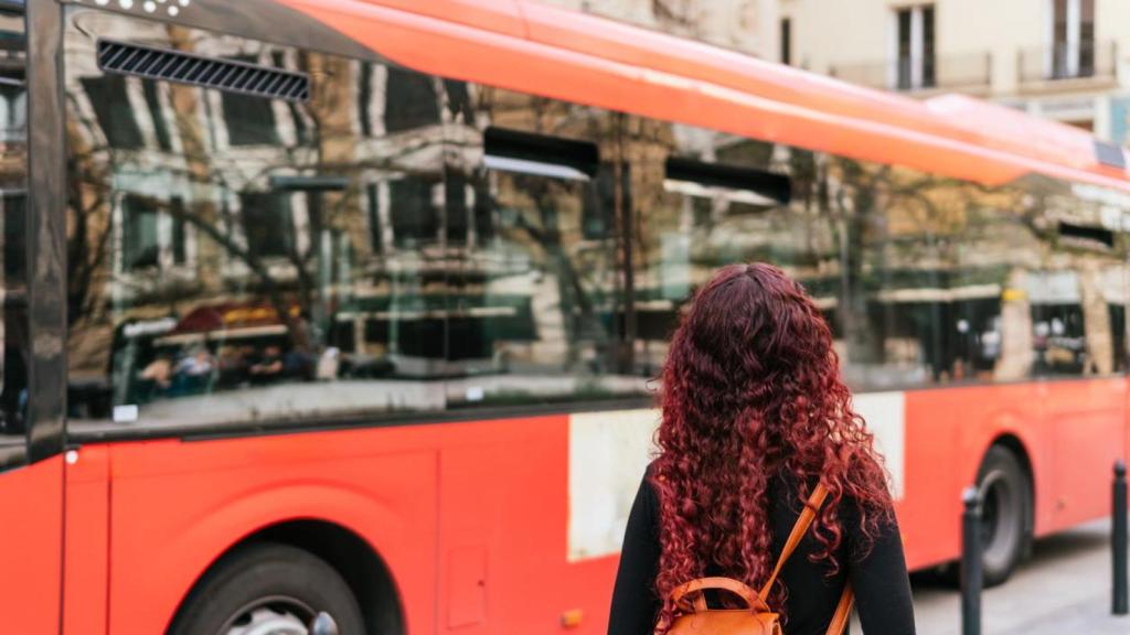
[[[844,521],[854,529],[847,537],[847,575],[863,634],[914,635],[914,604],[898,521],[892,513],[880,524],[868,550],[858,529],[858,512],[847,513]]]

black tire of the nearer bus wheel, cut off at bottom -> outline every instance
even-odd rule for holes
[[[341,635],[364,635],[356,598],[325,560],[289,545],[250,545],[205,574],[177,611],[168,635],[238,633],[253,615],[255,619],[276,619],[277,615],[281,624],[308,625],[322,611],[333,618]]]

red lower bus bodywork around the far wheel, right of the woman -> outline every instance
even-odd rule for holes
[[[1127,380],[1033,382],[906,393],[906,481],[897,505],[912,567],[953,559],[960,492],[989,446],[1014,437],[1035,488],[1035,532],[1110,514],[1111,468],[1124,456]]]

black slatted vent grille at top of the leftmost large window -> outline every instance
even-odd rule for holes
[[[310,76],[305,73],[112,40],[98,41],[98,68],[270,99],[310,99]]]

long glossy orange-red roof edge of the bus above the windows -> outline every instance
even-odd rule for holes
[[[521,37],[484,20],[477,3],[443,2],[437,17],[426,2],[280,1],[421,72],[980,183],[1036,172],[1130,191],[1067,127],[1002,132],[996,111],[957,121],[903,96],[536,2],[516,0]],[[1032,133],[1069,142],[1033,145]]]

